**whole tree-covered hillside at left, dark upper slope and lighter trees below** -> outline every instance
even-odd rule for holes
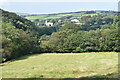
[[[2,49],[0,51],[3,61],[39,52],[34,23],[15,13],[2,12]]]

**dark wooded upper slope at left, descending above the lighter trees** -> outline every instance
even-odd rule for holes
[[[27,29],[29,30],[35,29],[35,24],[31,22],[30,20],[22,18],[15,13],[4,11],[2,9],[0,10],[2,11],[3,23],[11,23],[16,28],[23,29],[24,31],[26,31]]]

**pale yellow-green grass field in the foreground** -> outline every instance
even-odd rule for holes
[[[1,66],[3,78],[115,78],[118,73],[118,53],[35,54]]]

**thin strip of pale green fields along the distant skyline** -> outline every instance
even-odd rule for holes
[[[46,19],[59,19],[63,17],[70,17],[70,19],[80,18],[82,16],[94,16],[94,15],[106,15],[115,14],[115,11],[78,11],[78,12],[67,12],[67,13],[56,13],[56,14],[32,14],[25,16],[26,19],[34,21],[35,19],[46,20]]]

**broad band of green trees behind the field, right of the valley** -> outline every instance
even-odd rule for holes
[[[46,38],[47,41],[42,41],[41,47],[48,48],[51,52],[120,51],[118,36],[117,29],[97,29],[88,32],[63,30],[53,33],[49,39]]]

